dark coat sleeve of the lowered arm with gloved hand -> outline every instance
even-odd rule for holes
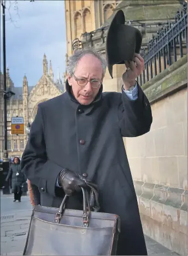
[[[21,159],[21,169],[28,180],[39,188],[41,193],[56,195],[56,180],[63,169],[50,161],[46,153],[44,136],[44,116],[38,105],[37,115],[31,125],[30,138]]]

